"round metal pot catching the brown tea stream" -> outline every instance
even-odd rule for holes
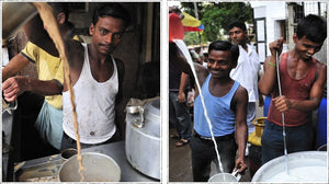
[[[84,152],[81,156],[83,182],[120,182],[121,169],[112,158],[98,152]],[[60,182],[81,182],[77,154],[64,162],[58,179]]]

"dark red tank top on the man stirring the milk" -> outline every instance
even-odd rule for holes
[[[317,60],[313,58],[313,65],[309,67],[309,70],[305,78],[296,80],[290,77],[287,72],[287,53],[282,55],[280,62],[280,79],[281,79],[281,89],[282,95],[287,99],[294,100],[308,100],[310,89],[315,82],[315,71]],[[276,84],[277,85],[277,84]],[[272,93],[272,99],[279,96],[277,87]],[[291,108],[284,113],[285,125],[288,127],[299,126],[308,123],[311,117],[311,112],[303,112],[295,108]],[[282,113],[280,113],[275,107],[273,101],[271,101],[268,120],[282,126]]]

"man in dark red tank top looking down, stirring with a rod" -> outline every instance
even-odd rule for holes
[[[317,110],[327,81],[327,67],[314,57],[327,37],[327,23],[309,14],[297,25],[293,35],[295,47],[280,57],[279,95],[276,55],[282,51],[283,38],[270,43],[271,57],[264,64],[264,76],[259,81],[260,91],[272,95],[268,120],[263,130],[262,163],[284,154],[284,113],[287,152],[310,150],[313,147],[311,112]]]

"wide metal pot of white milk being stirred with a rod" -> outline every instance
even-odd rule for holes
[[[326,151],[302,151],[290,153],[287,156],[288,174],[285,171],[285,158],[282,156],[262,165],[257,171],[251,182],[328,182]]]

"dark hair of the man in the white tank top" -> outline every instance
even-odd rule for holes
[[[131,14],[120,3],[105,3],[99,5],[94,9],[92,15],[92,23],[95,25],[99,21],[99,18],[112,16],[115,19],[122,19],[124,22],[124,28],[131,25]]]

